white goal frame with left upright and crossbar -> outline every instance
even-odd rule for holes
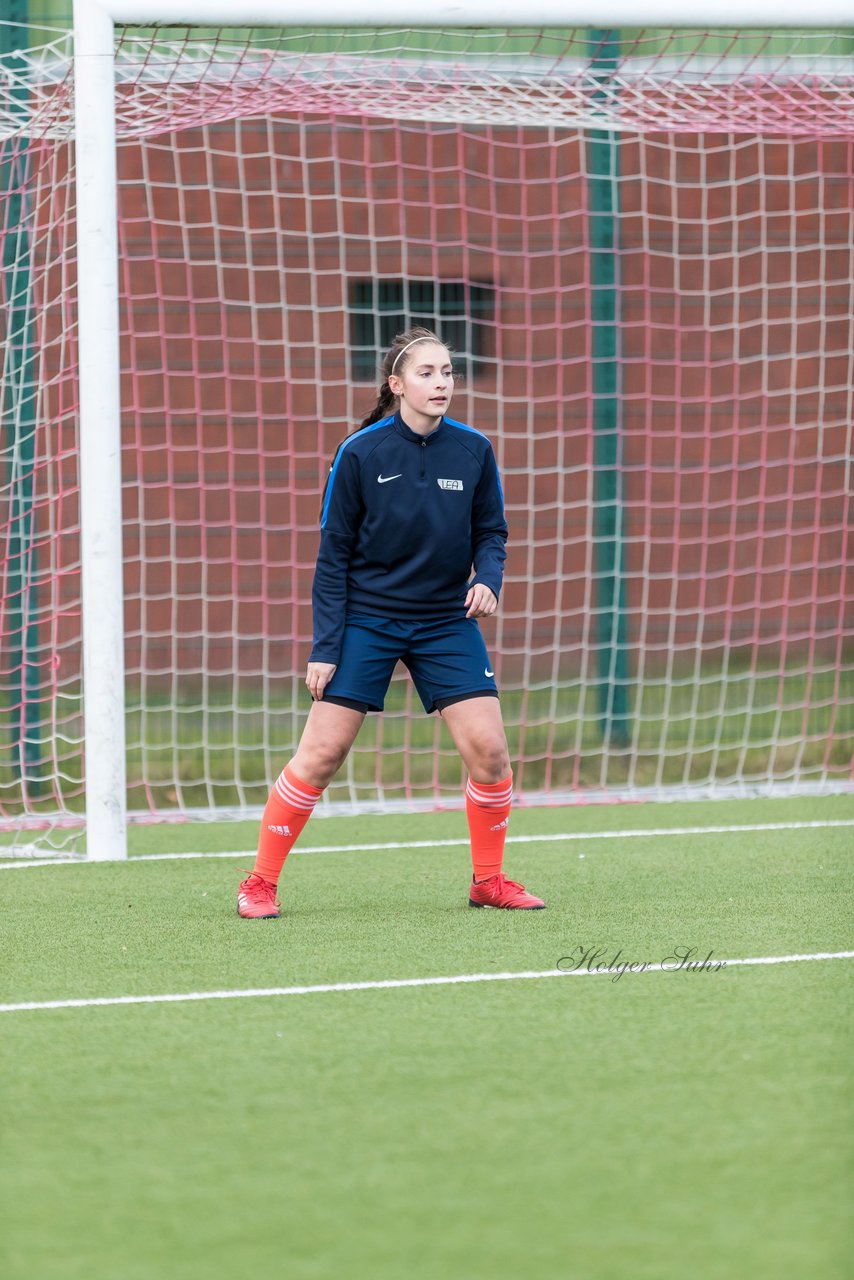
[[[88,856],[127,856],[119,278],[114,31],[119,24],[302,24],[293,0],[74,0],[82,634]],[[399,26],[397,0],[315,0],[312,26]],[[853,24],[850,0],[431,0],[419,26],[813,28]]]

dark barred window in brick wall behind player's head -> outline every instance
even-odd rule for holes
[[[493,355],[495,289],[469,280],[350,280],[350,351],[355,381],[376,381],[396,334],[412,325],[434,329],[465,378],[476,378]]]

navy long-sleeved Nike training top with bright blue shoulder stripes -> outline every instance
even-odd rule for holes
[[[465,617],[471,582],[501,593],[506,541],[495,456],[480,431],[443,417],[419,435],[396,413],[348,435],[323,500],[309,660],[338,663],[347,614]]]

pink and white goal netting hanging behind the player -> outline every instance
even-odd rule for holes
[[[252,69],[246,83],[220,74],[210,84],[182,64],[165,90],[150,83],[151,63],[133,88],[127,63],[122,74],[132,134],[119,152],[132,808],[260,803],[293,748],[320,490],[335,445],[373,403],[383,306],[398,307],[401,326],[456,325],[471,364],[453,413],[497,447],[512,541],[502,616],[485,630],[520,791],[846,780],[845,77],[831,93],[803,76],[793,88],[766,67],[739,88],[711,68],[703,84],[689,77],[673,128],[675,95],[657,97],[652,69],[624,68],[609,82],[621,131],[624,749],[603,741],[595,704],[589,122],[376,119],[364,91],[361,111],[347,105],[346,76],[323,90],[312,82],[330,118],[296,109],[321,97],[305,96],[302,73],[274,86],[277,63],[247,55],[237,60]],[[402,70],[388,64],[378,76],[391,87]],[[58,83],[56,100],[67,97]],[[531,110],[547,91],[529,91]],[[371,101],[379,110],[382,96]],[[566,90],[563,108],[572,101]],[[42,106],[50,134],[55,114]],[[251,118],[232,119],[237,106]],[[166,111],[156,128],[155,109]],[[810,111],[812,134],[802,127]],[[4,435],[0,812],[24,824],[58,810],[76,820],[82,796],[72,155],[61,138],[28,142],[38,407],[23,472],[20,439],[9,426]],[[13,234],[6,224],[5,244]],[[17,314],[12,279],[3,338]],[[398,302],[382,302],[380,285]],[[365,289],[375,291],[373,310]],[[466,307],[476,291],[475,323]],[[26,570],[13,545],[22,492],[32,495]],[[36,746],[22,780],[28,736]],[[399,678],[389,714],[366,730],[330,796],[435,803],[458,783],[447,741]]]

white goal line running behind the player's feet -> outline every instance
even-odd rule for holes
[[[827,818],[817,822],[745,822],[730,823],[714,827],[636,827],[629,831],[561,831],[540,836],[508,836],[508,845],[538,845],[554,844],[556,841],[588,841],[588,840],[640,840],[644,837],[667,836],[720,836],[730,832],[749,831],[817,831],[827,827],[854,827],[854,818]],[[407,840],[385,841],[370,845],[297,845],[294,854],[362,854],[383,850],[403,849],[461,849],[469,845],[469,837],[458,840]],[[131,863],[164,863],[183,861],[193,858],[254,858],[254,852],[246,849],[229,849],[219,852],[189,852],[189,854],[137,854],[128,859]],[[3,852],[0,851],[0,858]],[[88,867],[102,863],[87,863],[82,858],[19,858],[15,861],[0,863],[0,872],[18,870],[24,867]]]

